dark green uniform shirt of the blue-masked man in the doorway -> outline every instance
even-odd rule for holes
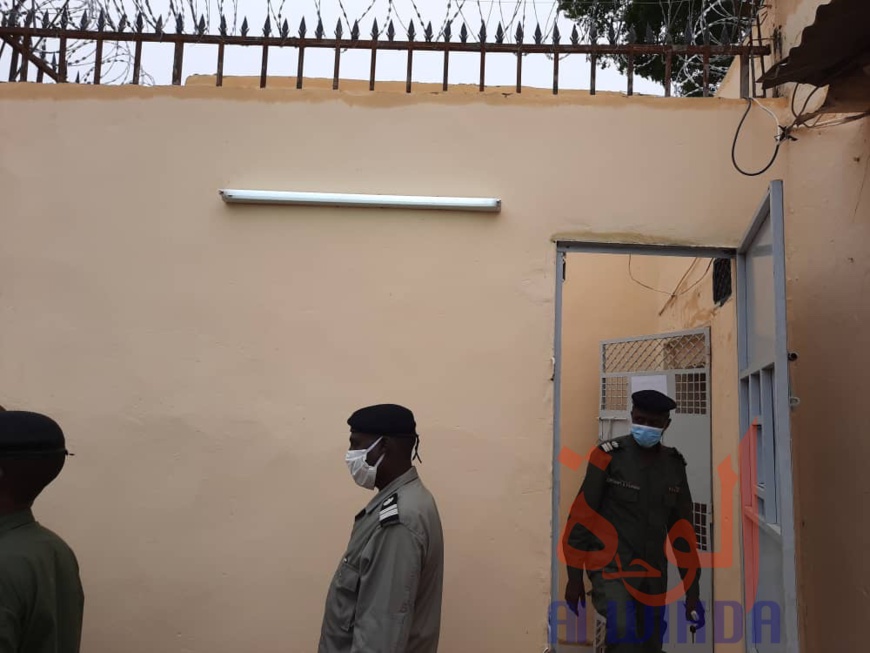
[[[660,573],[646,579],[636,576],[625,580],[636,587],[646,587],[648,591],[664,592],[667,588],[665,542],[668,532],[681,519],[694,525],[686,461],[673,447],[659,445],[655,450],[645,450],[631,435],[605,442],[599,445],[599,449],[610,456],[609,464],[601,470],[590,462],[580,492],[589,507],[616,529],[619,538],[616,558],[622,571],[638,571],[640,567],[632,565],[632,561],[639,559]],[[601,451],[596,453],[601,454]],[[603,548],[599,538],[582,525],[571,530],[568,544],[582,551]],[[697,550],[690,551],[685,540],[679,539],[672,545],[677,551],[697,555]],[[615,558],[604,571],[619,571]],[[685,576],[686,571],[680,569],[681,575]],[[587,572],[595,583],[597,570],[587,569]],[[582,573],[580,569],[568,567],[571,578],[581,579]],[[688,597],[698,597],[700,579],[699,569],[687,590]]]

